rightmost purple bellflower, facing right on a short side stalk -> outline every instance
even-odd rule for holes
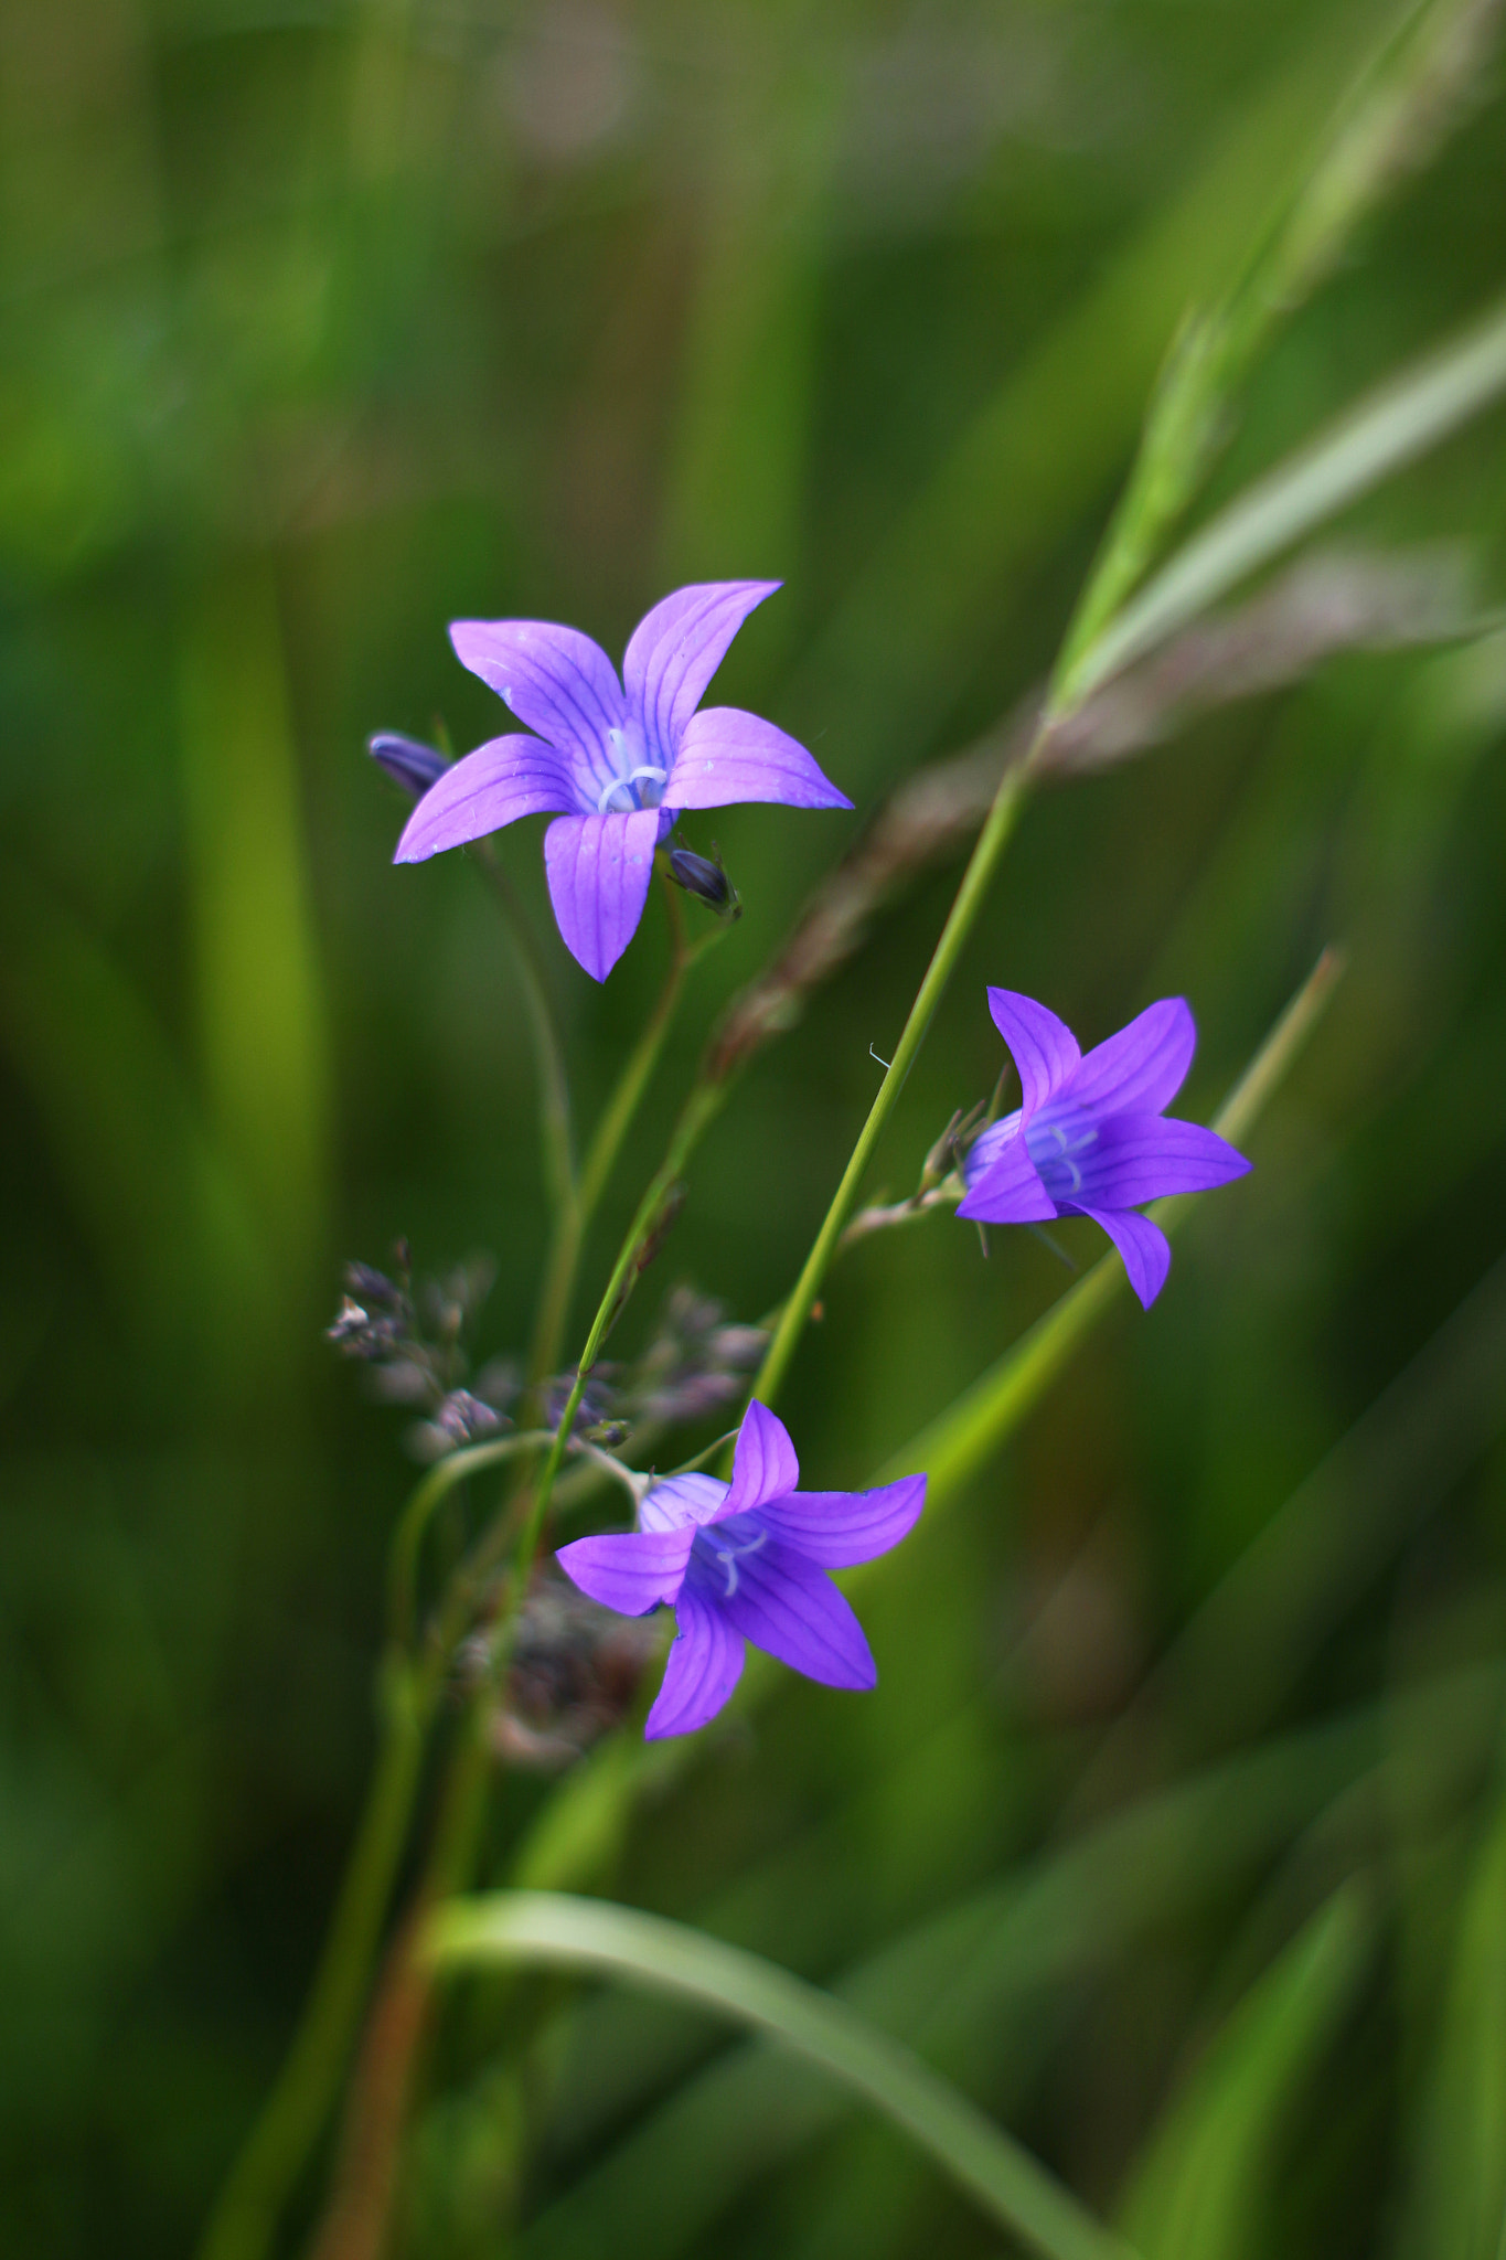
[[[1197,1028],[1183,997],[1163,997],[1084,1060],[1072,1031],[1034,997],[989,990],[993,1026],[1014,1053],[1023,1105],[982,1132],[966,1157],[957,1216],[1030,1225],[1091,1216],[1124,1257],[1149,1311],[1172,1268],[1161,1225],[1138,1216],[1163,1193],[1203,1193],[1251,1166],[1199,1123],[1165,1121]]]

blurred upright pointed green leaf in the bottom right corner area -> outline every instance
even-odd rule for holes
[[[1133,2174],[1122,2217],[1149,2260],[1255,2253],[1282,2136],[1355,2000],[1371,1935],[1361,1889],[1346,1885],[1222,2025]]]

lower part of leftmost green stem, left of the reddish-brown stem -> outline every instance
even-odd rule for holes
[[[262,2260],[334,2106],[409,1833],[427,1715],[406,1661],[391,1661],[384,1738],[334,1921],[298,2034],[210,2219],[199,2260]]]

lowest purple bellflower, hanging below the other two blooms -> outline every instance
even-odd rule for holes
[[[643,1733],[691,1733],[723,1709],[743,1672],[743,1641],[806,1679],[872,1688],[863,1625],[826,1575],[872,1562],[912,1530],[926,1478],[878,1492],[797,1492],[799,1462],[783,1422],[750,1403],[732,1483],[666,1476],[639,1505],[639,1528],[576,1539],[558,1553],[583,1593],[621,1616],[659,1602],[675,1645]]]

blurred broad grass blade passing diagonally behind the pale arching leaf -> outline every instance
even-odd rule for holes
[[[1409,1731],[1488,1763],[1504,1690],[1499,1663],[1411,1688]],[[1052,2005],[1063,1991],[1246,1889],[1334,1799],[1380,1781],[1391,1729],[1391,1713],[1371,1704],[1145,1794],[865,1955],[831,1991],[962,2086],[1021,2095],[1059,2029]],[[576,2011],[587,2054],[598,2045],[596,2014]],[[662,2043],[637,2090],[614,2088],[610,2118],[583,2142],[594,2163],[519,2235],[517,2260],[601,2249],[614,2260],[680,2260],[756,2183],[851,2120],[831,2081],[759,2043],[686,2070],[686,2057]],[[675,2093],[601,2154],[605,2127],[621,2127],[675,2075]],[[702,2161],[700,2174],[675,2172],[686,2156]],[[881,2260],[887,2244],[872,2235],[863,2249]]]

